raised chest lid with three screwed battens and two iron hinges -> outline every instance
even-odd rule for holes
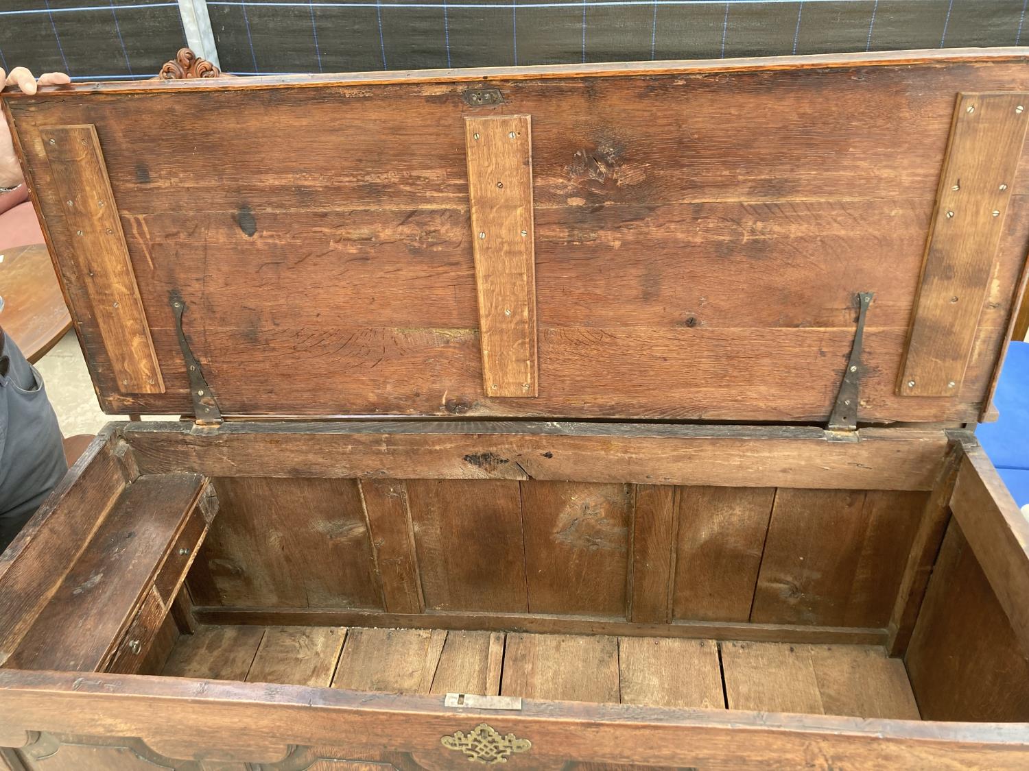
[[[968,421],[1029,243],[1027,56],[3,106],[110,413]]]

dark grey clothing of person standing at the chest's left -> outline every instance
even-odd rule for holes
[[[0,330],[0,552],[67,471],[43,379]]]

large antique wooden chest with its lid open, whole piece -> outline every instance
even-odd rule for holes
[[[2,758],[1026,768],[1026,58],[5,94],[103,408],[190,417],[0,558]]]

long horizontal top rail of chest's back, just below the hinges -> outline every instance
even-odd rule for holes
[[[216,436],[177,423],[121,429],[145,473],[208,476],[544,479],[640,484],[928,490],[939,429],[821,429],[518,421],[226,423]],[[740,457],[750,463],[740,464]],[[627,464],[626,458],[633,458]],[[224,515],[222,515],[224,516]]]

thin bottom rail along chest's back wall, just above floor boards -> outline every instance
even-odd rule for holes
[[[410,629],[424,627],[431,618],[436,629],[519,629],[545,634],[610,634],[645,637],[693,637],[781,642],[883,645],[885,629],[811,624],[752,624],[739,621],[676,621],[640,624],[590,616],[533,615],[528,613],[477,613],[433,611],[431,614],[391,614],[311,608],[198,608],[204,624],[261,624],[269,626],[377,626]]]

